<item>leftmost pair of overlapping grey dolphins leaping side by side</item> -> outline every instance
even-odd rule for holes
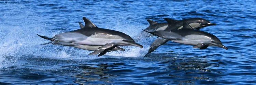
[[[125,33],[98,28],[85,17],[83,17],[83,20],[85,22],[85,26],[79,23],[81,29],[59,33],[52,38],[41,35],[38,36],[51,40],[49,43],[45,44],[71,46],[84,50],[90,50],[94,51],[90,54],[100,53],[98,56],[104,55],[109,51],[125,50],[118,46],[136,46],[143,48],[142,45],[136,43],[129,35]]]

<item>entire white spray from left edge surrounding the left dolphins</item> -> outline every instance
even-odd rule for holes
[[[120,22],[118,17],[114,26],[111,23],[104,24],[104,26],[107,26],[106,29],[124,32],[134,39],[137,38],[138,40],[135,39],[136,42],[143,45],[144,48],[123,46],[122,48],[126,51],[108,52],[106,56],[97,57],[97,55],[88,55],[92,51],[65,46],[40,45],[47,42],[47,40],[38,37],[37,34],[52,37],[68,30],[53,30],[63,28],[47,23],[50,20],[41,17],[41,13],[37,12],[36,7],[26,6],[22,3],[4,3],[0,4],[0,6],[2,7],[0,20],[3,22],[0,23],[0,69],[15,64],[21,57],[31,56],[63,60],[93,60],[107,56],[138,57],[144,56],[148,49],[147,47],[149,47],[148,45],[150,45],[150,43],[147,43],[148,39],[137,37],[142,31],[141,29],[145,29],[147,25],[133,25],[129,22]],[[77,23],[76,25],[79,28]]]

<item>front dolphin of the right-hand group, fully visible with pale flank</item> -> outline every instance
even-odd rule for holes
[[[209,46],[216,46],[226,50],[228,49],[226,46],[222,45],[222,42],[219,40],[219,38],[208,32],[194,30],[191,26],[189,26],[186,20],[183,20],[183,27],[180,30],[171,32],[155,31],[148,33],[174,41],[176,43],[193,45],[193,48],[206,49]]]

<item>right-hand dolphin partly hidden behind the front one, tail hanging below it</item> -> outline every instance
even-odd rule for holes
[[[163,19],[165,19],[168,22],[168,27],[165,29],[165,31],[175,31],[175,30],[182,29],[184,20],[189,23],[189,25],[192,27],[192,29],[196,29],[196,30],[200,30],[203,27],[216,25],[215,23],[211,23],[210,21],[203,19],[203,18],[187,18],[187,19],[183,19],[183,20],[175,20],[175,19],[171,19],[171,18],[163,18]],[[150,49],[148,49],[147,54],[153,52],[159,46],[167,43],[167,41],[168,40],[166,40],[166,39],[158,37],[150,45]]]

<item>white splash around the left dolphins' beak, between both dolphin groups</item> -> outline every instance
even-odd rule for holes
[[[114,28],[107,27],[107,29],[114,29],[131,36],[138,44],[142,45],[143,48],[134,47],[134,46],[122,46],[122,48],[124,48],[125,51],[112,51],[112,52],[106,53],[105,55],[123,56],[123,57],[144,56],[150,45],[150,42],[148,42],[149,38],[144,36],[146,34],[141,34],[142,29],[145,29],[146,27],[147,25],[133,25],[133,24],[130,24],[129,22],[120,23],[119,19],[117,19],[116,25],[114,26]]]

